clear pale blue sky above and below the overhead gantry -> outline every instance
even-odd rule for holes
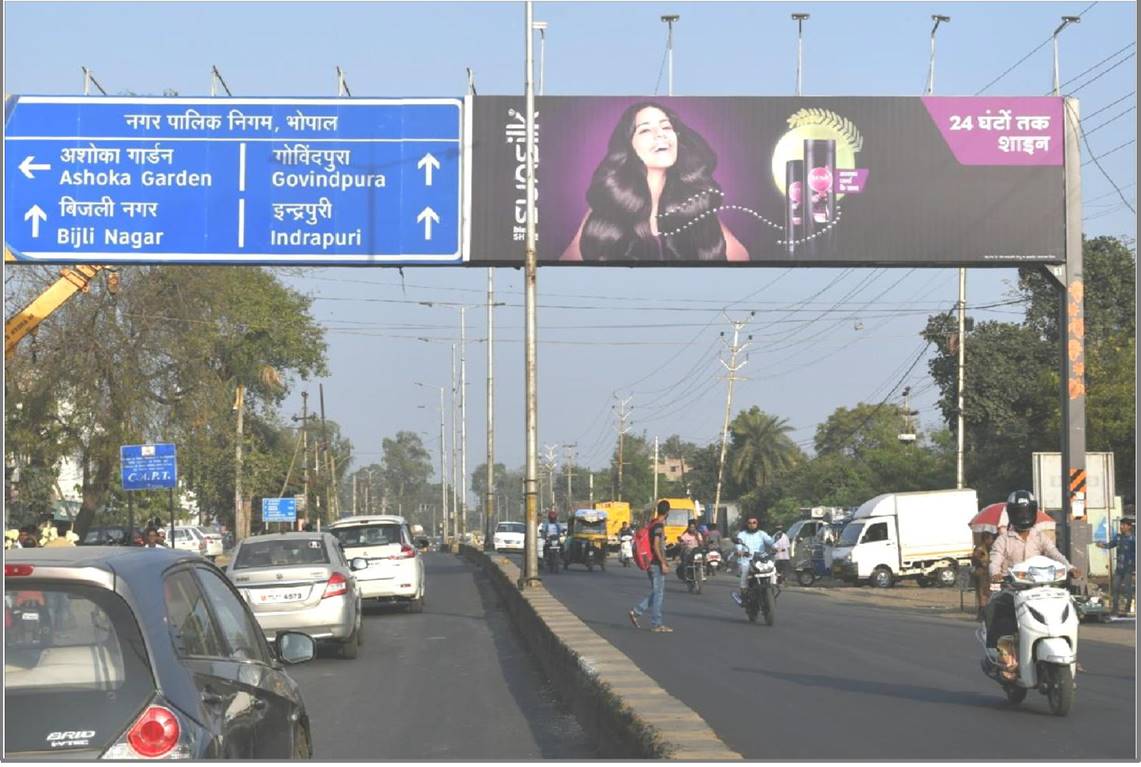
[[[1136,112],[1125,112],[1136,104],[1136,58],[1109,68],[1136,50],[1136,6],[1090,6],[539,2],[535,18],[550,23],[548,95],[664,94],[665,26],[658,17],[665,13],[681,16],[674,35],[677,95],[790,95],[792,11],[811,14],[806,95],[909,95],[925,82],[930,16],[947,14],[953,18],[939,30],[936,92],[971,95],[1047,40],[1061,15],[1084,11],[1082,23],[1062,34],[1061,79],[1076,78],[1063,90],[1081,87],[1076,95],[1083,115],[1092,115],[1085,126],[1100,154],[1136,137]],[[81,92],[81,66],[112,95],[164,89],[209,95],[211,65],[235,96],[334,95],[337,65],[354,96],[461,95],[468,66],[480,94],[523,89],[519,2],[5,2],[3,9],[7,94]],[[1044,95],[1050,86],[1046,45],[987,94]],[[1135,204],[1136,145],[1102,164]],[[1109,183],[1092,164],[1083,172],[1086,233],[1135,236],[1136,218]],[[1015,276],[1012,269],[972,269],[969,302],[1002,300]],[[469,471],[484,460],[486,329],[479,305],[486,271],[410,268],[403,284],[395,269],[313,269],[286,278],[315,297],[315,315],[329,328],[327,414],[343,425],[365,463],[379,458],[381,438],[398,429],[423,433],[435,455],[438,394],[413,381],[447,385],[459,312],[439,304],[470,304]],[[807,317],[820,318],[791,323],[806,313],[790,309],[827,285],[808,305],[817,310]],[[519,466],[519,273],[499,269],[496,286],[499,300],[508,302],[496,313],[496,457]],[[796,428],[794,438],[809,444],[816,425],[835,407],[879,402],[900,382],[920,393],[914,404],[924,426],[938,423],[925,361],[903,374],[920,353],[917,333],[926,316],[955,300],[954,269],[583,267],[542,269],[539,286],[540,306],[548,307],[540,312],[540,444],[577,443],[580,460],[591,466],[604,466],[613,449],[615,390],[633,396],[636,433],[680,434],[699,443],[718,436],[725,384],[718,380],[715,353],[719,332],[728,330],[719,317],[722,306],[745,297],[733,310],[758,314],[743,371],[750,380],[738,385],[735,411],[755,404],[785,417]],[[876,297],[877,309],[864,304]],[[387,302],[391,299],[407,302]],[[972,315],[1017,320],[1018,307]],[[316,382],[308,388],[316,394]],[[289,406],[300,407],[298,394]]]

